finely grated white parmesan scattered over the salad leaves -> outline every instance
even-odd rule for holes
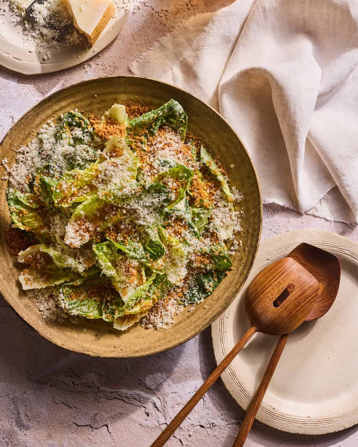
[[[62,116],[62,118],[64,117]],[[92,122],[91,124],[95,128]],[[90,240],[101,240],[104,219],[113,222],[111,226],[106,227],[107,232],[114,232],[111,240],[116,240],[116,238],[119,240],[119,235],[124,234],[123,230],[128,230],[130,223],[133,221],[136,225],[145,227],[161,225],[165,228],[167,234],[175,239],[168,237],[168,242],[165,244],[165,254],[153,264],[152,270],[165,272],[168,280],[175,286],[170,289],[166,297],[149,310],[147,315],[142,318],[139,316],[138,320],[141,318],[141,324],[145,328],[162,329],[169,327],[184,305],[190,302],[192,307],[189,310],[192,311],[195,308],[194,306],[203,300],[200,294],[196,295],[196,301],[193,299],[189,301],[188,298],[189,291],[198,289],[196,277],[203,271],[215,274],[208,258],[206,258],[205,263],[205,254],[203,255],[200,252],[204,251],[205,253],[205,249],[208,247],[230,241],[231,245],[228,253],[234,254],[242,245],[241,240],[238,242],[234,239],[234,233],[241,229],[240,218],[243,216],[243,210],[233,211],[232,204],[228,203],[227,198],[224,197],[219,182],[215,182],[215,179],[210,180],[208,177],[203,189],[210,190],[208,196],[210,198],[210,208],[207,208],[209,223],[200,236],[198,232],[190,231],[192,217],[190,212],[189,216],[185,214],[188,212],[185,209],[185,197],[173,207],[171,214],[168,213],[163,219],[161,211],[163,197],[160,194],[145,194],[146,185],[151,183],[155,177],[176,165],[184,165],[194,172],[199,172],[202,166],[200,161],[196,161],[196,157],[192,153],[192,146],[183,143],[179,134],[169,127],[162,126],[153,137],[149,137],[147,146],[143,150],[140,146],[137,146],[134,150],[132,148],[131,151],[124,143],[124,139],[122,145],[120,145],[119,138],[116,137],[115,144],[111,146],[107,142],[103,152],[95,152],[92,148],[90,139],[93,137],[93,128],[89,124],[85,134],[81,131],[81,128],[74,128],[71,131],[64,131],[64,129],[66,127],[62,127],[61,133],[57,131],[52,121],[47,122],[26,147],[21,146],[14,149],[16,163],[13,166],[9,167],[6,158],[2,160],[5,173],[9,174],[3,178],[10,177],[10,186],[21,192],[28,192],[29,181],[34,179],[38,169],[44,165],[49,165],[48,169],[51,171],[51,177],[59,180],[64,173],[75,167],[84,169],[85,166],[90,165],[93,159],[100,160],[100,163],[90,165],[91,169],[92,166],[97,166],[96,176],[90,177],[92,183],[88,183],[90,186],[83,186],[80,190],[81,193],[91,192],[94,188],[97,197],[101,198],[101,194],[111,191],[112,188],[118,196],[125,194],[128,197],[123,200],[123,203],[121,201],[120,206],[107,202],[105,206],[101,205],[98,209],[94,208],[89,215],[85,215],[84,211],[78,211],[79,217],[78,219],[76,217],[77,220],[73,219],[74,214],[72,214],[73,208],[71,207],[63,208],[59,214],[49,212],[46,231],[55,238],[53,245],[61,254],[63,266],[81,273],[96,262],[92,243],[89,243],[87,248],[83,244]],[[77,144],[76,141],[82,143]],[[101,147],[103,146],[104,144]],[[98,159],[99,155],[101,158]],[[136,167],[138,164],[140,164],[141,169],[137,176],[139,183],[136,183]],[[179,188],[180,183],[176,183],[175,178],[169,176],[160,178],[172,191],[171,200],[174,200],[176,189]],[[192,178],[194,179],[194,177]],[[71,183],[68,190],[72,193],[77,192]],[[193,191],[194,187],[192,187],[190,194],[194,195]],[[235,188],[231,188],[231,191],[234,201],[240,202],[243,198],[242,194]],[[188,200],[194,200],[194,198]],[[212,205],[213,208],[211,208]],[[116,231],[117,233],[115,233]],[[139,228],[135,228],[135,231],[129,231],[132,240],[140,240],[140,231]],[[171,242],[171,240],[176,242]],[[81,248],[77,248],[80,246]],[[92,253],[92,260],[89,252]],[[208,250],[206,250],[206,253],[208,253]],[[200,256],[201,261],[198,261]],[[127,259],[117,262],[115,271],[119,277],[126,277],[128,270],[134,271],[137,267],[138,261]],[[106,270],[106,266],[102,266],[101,270],[104,275],[109,277],[113,275],[112,271]],[[28,274],[29,278],[30,273]],[[214,281],[216,280],[214,278]],[[210,290],[210,287],[212,287],[212,284],[209,284],[206,290]],[[132,293],[132,289],[130,292]],[[59,299],[57,287],[32,290],[28,293],[34,299],[45,320],[61,322],[67,316],[57,304]]]

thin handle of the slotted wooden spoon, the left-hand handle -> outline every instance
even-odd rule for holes
[[[198,391],[192,396],[190,401],[183,406],[175,418],[170,422],[170,424],[162,431],[158,438],[153,442],[150,447],[162,447],[170,436],[175,432],[183,420],[192,411],[195,405],[200,401],[204,394],[208,391],[211,385],[217,380],[217,378],[222,374],[222,371],[231,363],[236,354],[246,345],[250,338],[256,333],[256,328],[251,327],[241,338],[241,340],[232,348],[229,354],[222,360],[222,362],[214,369],[214,371],[209,375],[208,379],[201,385]]]

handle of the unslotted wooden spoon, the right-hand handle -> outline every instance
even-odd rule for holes
[[[257,388],[255,396],[253,397],[249,409],[247,410],[246,416],[241,424],[239,433],[237,434],[232,447],[243,447],[245,444],[247,435],[251,430],[251,426],[255,421],[255,417],[257,412],[259,411],[262,399],[264,398],[265,392],[268,388],[268,385],[272,379],[273,373],[277,367],[277,363],[280,360],[283,348],[286,345],[287,338],[289,334],[281,335],[280,340],[278,341],[275,350],[268,362],[266,371],[261,379],[259,388]]]

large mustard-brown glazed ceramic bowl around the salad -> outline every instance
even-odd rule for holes
[[[4,182],[0,198],[0,292],[28,325],[56,345],[83,354],[113,358],[139,357],[173,348],[211,325],[229,306],[247,278],[256,255],[262,223],[262,202],[255,169],[239,137],[227,122],[209,105],[183,90],[136,76],[104,77],[72,85],[40,101],[14,124],[1,142],[1,158],[7,157],[9,164],[13,164],[15,144],[17,147],[27,145],[44,123],[68,110],[77,108],[85,114],[102,114],[115,102],[129,100],[148,103],[154,109],[170,98],[179,101],[188,114],[188,132],[203,139],[213,156],[220,156],[231,185],[243,194],[238,205],[244,209],[242,232],[237,235],[242,245],[233,258],[234,270],[211,296],[196,306],[194,312],[184,309],[169,329],[144,329],[136,324],[119,332],[103,320],[85,319],[79,324],[69,320],[62,325],[46,323],[21,290],[17,278],[22,266],[7,251],[5,233],[11,219]],[[230,168],[232,164],[234,168]]]

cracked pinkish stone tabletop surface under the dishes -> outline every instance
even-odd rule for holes
[[[95,76],[130,74],[129,64],[193,14],[230,0],[145,0],[119,37],[87,63],[27,77],[0,67],[0,136],[49,93]],[[275,205],[264,209],[263,240],[300,228],[322,228],[352,240],[358,233]],[[53,346],[21,322],[0,298],[0,446],[146,447],[214,369],[211,331],[148,358],[85,357]],[[218,381],[167,443],[231,446],[244,412]],[[356,447],[356,428],[324,436],[286,434],[256,422],[247,447]]]

